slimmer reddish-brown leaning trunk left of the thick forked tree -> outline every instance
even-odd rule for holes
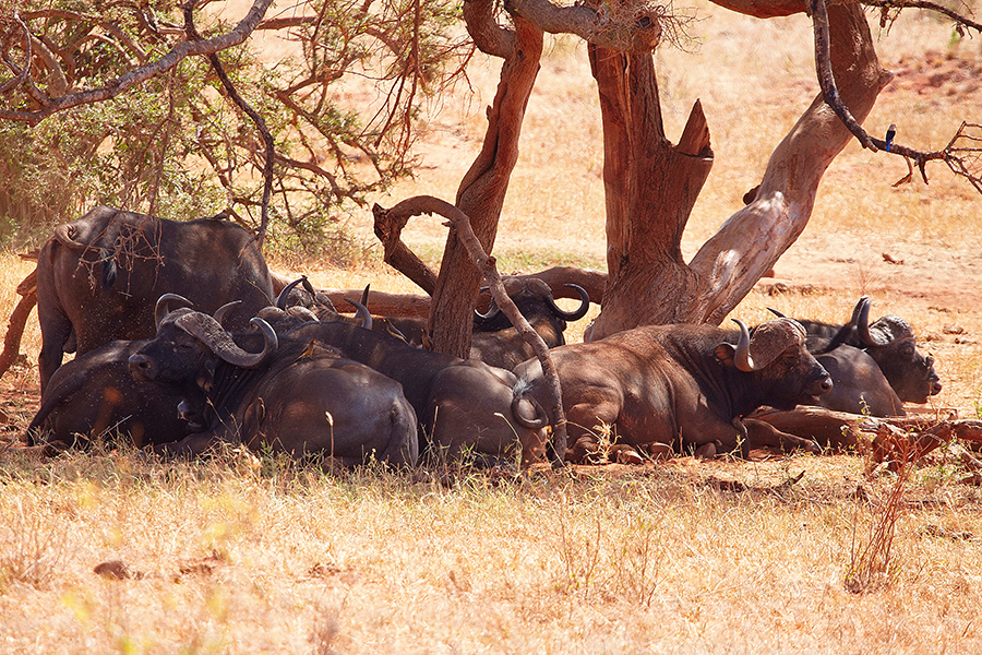
[[[488,3],[470,0],[465,3],[465,11],[468,5],[480,4]],[[498,94],[488,110],[483,147],[457,190],[456,206],[470,217],[471,228],[484,252],[491,252],[494,246],[508,179],[518,160],[518,135],[525,108],[542,55],[542,31],[519,16],[514,16],[514,47],[502,64]],[[470,25],[468,21],[468,28]],[[451,230],[430,310],[429,331],[434,350],[467,357],[471,317],[480,285],[480,272]]]

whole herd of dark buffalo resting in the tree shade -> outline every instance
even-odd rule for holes
[[[125,436],[191,456],[216,443],[369,461],[525,464],[555,455],[550,385],[503,312],[475,312],[469,359],[428,348],[426,323],[339,313],[306,277],[274,298],[249,231],[97,207],[59,226],[37,270],[40,406],[28,443]],[[778,318],[747,327],[649,325],[565,344],[583,318],[529,277],[505,290],[550,348],[572,448],[566,460],[746,455],[816,444],[754,418],[797,405],[901,416],[941,391],[933,359],[869,298],[839,325]],[[62,365],[63,353],[75,353]]]

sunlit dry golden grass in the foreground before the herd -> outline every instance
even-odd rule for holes
[[[982,647],[979,492],[945,483],[908,500],[891,584],[858,596],[843,585],[869,520],[855,457],[475,474],[451,488],[241,452],[2,457],[10,653]]]

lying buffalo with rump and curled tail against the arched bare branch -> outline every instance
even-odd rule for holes
[[[524,462],[544,455],[544,415],[524,397],[524,384],[510,371],[415,348],[346,323],[308,323],[285,338],[334,346],[399,382],[424,438],[434,446],[431,455],[510,456],[516,445]]]

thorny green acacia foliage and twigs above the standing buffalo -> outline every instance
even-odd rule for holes
[[[241,19],[213,7],[195,9],[203,38]],[[455,23],[448,1],[311,0],[266,15],[252,38],[219,53],[275,140],[274,248],[321,250],[368,193],[411,172],[423,103],[462,74],[471,52]],[[46,98],[106,86],[171,51],[184,27],[173,0],[0,0],[0,110],[33,111]],[[271,55],[271,43],[282,55]],[[43,237],[96,203],[259,224],[263,141],[204,57],[108,102],[0,120],[0,148],[8,243]]]

